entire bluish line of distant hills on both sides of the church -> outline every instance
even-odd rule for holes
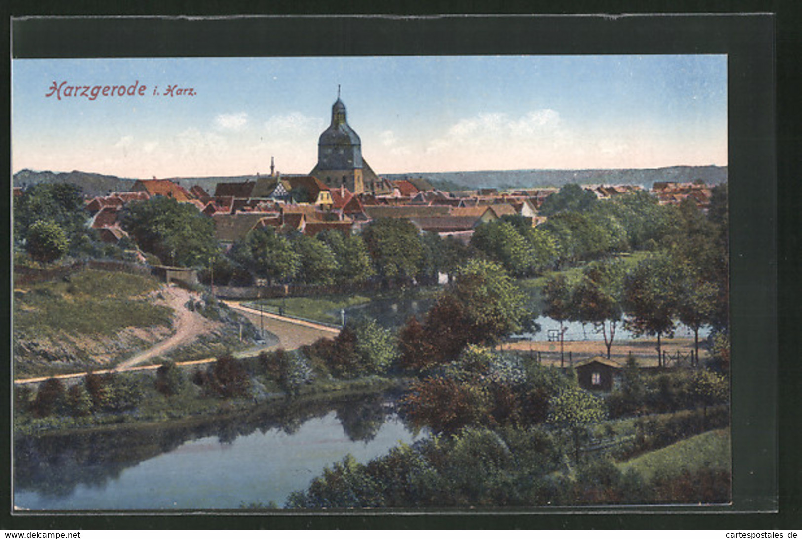
[[[527,188],[561,187],[569,183],[578,184],[639,184],[650,189],[655,181],[704,180],[707,184],[727,181],[727,167],[667,167],[667,168],[612,168],[596,170],[487,170],[472,172],[420,172],[406,174],[383,174],[390,180],[426,178],[436,188],[444,191],[460,191],[480,187]],[[177,181],[184,188],[200,185],[210,195],[218,183],[255,181],[256,175],[248,176],[196,176],[164,178]],[[14,174],[14,186],[24,187],[43,182],[76,184],[89,197],[99,197],[114,191],[128,191],[136,180],[95,174],[93,172],[36,172],[27,168]]]

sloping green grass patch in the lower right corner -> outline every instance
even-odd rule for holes
[[[622,472],[634,469],[645,480],[651,480],[658,472],[673,476],[683,469],[691,473],[698,470],[729,471],[731,466],[729,428],[705,432],[618,464]]]

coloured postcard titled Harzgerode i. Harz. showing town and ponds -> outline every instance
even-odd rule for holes
[[[731,508],[730,67],[15,57],[14,513]]]

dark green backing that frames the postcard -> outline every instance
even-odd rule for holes
[[[174,2],[172,8],[175,8]],[[541,2],[543,4],[544,2]],[[545,2],[548,4],[549,2]],[[597,12],[614,4],[629,11],[627,2],[572,2],[571,10]],[[630,9],[633,9],[630,3]],[[641,4],[643,2],[640,2]],[[721,10],[723,2],[652,2],[659,9]],[[727,3],[727,2],[724,2]],[[778,2],[729,2],[731,8],[751,12],[778,11]],[[658,6],[658,4],[661,4]],[[685,5],[683,5],[685,4]],[[691,6],[692,4],[692,6]],[[733,6],[735,4],[735,6]],[[74,6],[74,5],[71,5]],[[119,6],[86,2],[83,10],[60,2],[12,6],[13,14],[121,14]],[[202,9],[198,10],[197,6]],[[236,6],[236,4],[235,4]],[[429,4],[430,13],[453,8]],[[170,9],[168,7],[168,9]],[[298,10],[298,3],[279,3],[274,13]],[[440,7],[441,9],[436,9]],[[529,6],[504,4],[502,9],[533,12]],[[541,6],[542,7],[542,6]],[[642,10],[642,5],[638,8]],[[157,13],[147,2],[129,7],[126,14]],[[182,4],[172,14],[222,14],[236,7],[222,2]],[[342,10],[342,6],[339,6]],[[517,8],[517,9],[516,9]],[[521,9],[522,8],[522,9]],[[584,9],[583,9],[584,8]],[[171,14],[168,11],[162,13]],[[331,6],[308,9],[331,13]],[[407,10],[409,8],[407,7]],[[464,12],[493,10],[469,4]],[[23,10],[26,10],[24,12]],[[238,10],[253,13],[256,10]],[[345,11],[358,12],[346,5]],[[376,8],[371,11],[376,12]],[[541,11],[544,11],[541,9]],[[545,11],[549,11],[546,6]],[[385,10],[385,13],[390,12]],[[399,11],[396,11],[398,13]],[[8,24],[8,19],[4,23]],[[207,56],[207,55],[419,55],[419,54],[691,54],[727,53],[730,57],[730,177],[732,222],[732,314],[734,334],[734,444],[735,507],[755,511],[775,509],[777,477],[777,306],[776,306],[776,150],[775,150],[775,30],[770,14],[751,16],[683,17],[468,17],[468,18],[269,18],[192,21],[168,19],[46,19],[14,22],[16,57],[76,56]],[[789,29],[790,26],[788,25]],[[791,33],[781,33],[780,37]],[[335,46],[332,46],[332,43]],[[6,55],[7,58],[7,55]],[[7,86],[4,88],[7,92]],[[7,95],[7,93],[6,93]],[[786,218],[791,213],[782,213]],[[798,217],[797,217],[798,218]],[[792,220],[792,217],[791,217]],[[792,243],[796,246],[795,243]],[[798,267],[798,266],[796,266]],[[6,293],[7,294],[7,293]],[[9,348],[6,348],[8,350]],[[786,365],[784,364],[784,369]],[[792,367],[798,374],[799,367]],[[786,380],[784,376],[784,380]],[[787,380],[786,380],[787,381]],[[8,390],[3,390],[7,407]],[[793,398],[793,397],[792,397]],[[799,397],[796,403],[799,403]],[[784,401],[785,404],[785,401]],[[798,406],[783,408],[784,433],[795,432]],[[7,410],[6,410],[7,411]],[[786,413],[792,411],[792,413]],[[4,415],[7,418],[8,414]],[[7,423],[7,419],[6,419]],[[798,435],[795,435],[798,436]],[[784,444],[784,449],[790,446]],[[798,447],[798,446],[797,446]],[[8,462],[8,448],[3,456]],[[793,449],[791,449],[793,451]],[[796,449],[798,454],[799,449]],[[785,455],[793,454],[784,451]],[[8,468],[7,468],[8,469]],[[781,512],[751,514],[583,515],[538,514],[521,516],[337,516],[337,517],[14,517],[3,516],[3,528],[285,528],[285,527],[525,527],[525,528],[759,528],[775,527],[798,518],[799,467],[784,470],[780,492],[791,505]],[[796,481],[795,481],[796,479]],[[788,483],[788,480],[791,483]],[[796,486],[795,486],[796,485]],[[0,507],[9,507],[3,492]],[[797,501],[797,503],[793,503]],[[748,508],[747,508],[748,505]],[[792,521],[794,519],[792,518]],[[798,526],[798,524],[797,524]]]

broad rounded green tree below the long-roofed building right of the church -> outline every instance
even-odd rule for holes
[[[376,274],[385,284],[410,280],[418,273],[423,244],[407,219],[383,217],[371,222],[363,234]]]

